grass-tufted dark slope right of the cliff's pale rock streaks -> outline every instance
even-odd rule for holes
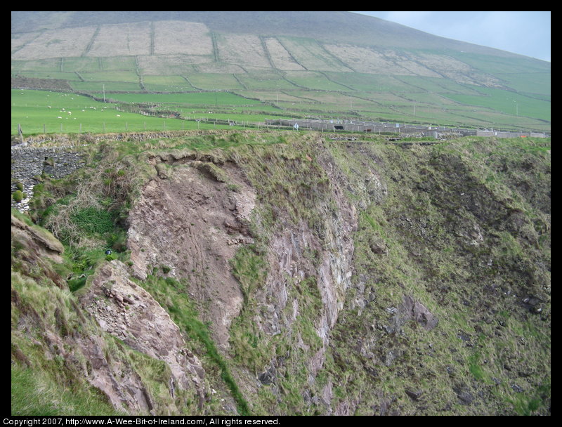
[[[354,173],[369,164],[337,150]],[[362,314],[349,304],[334,331],[340,346],[327,369],[347,367],[347,381],[336,376],[341,397],[365,384],[359,414],[371,413],[381,398],[409,414],[422,407],[443,414],[548,410],[549,326],[522,303],[531,294],[549,299],[549,270],[532,267],[550,258],[548,148],[461,140],[431,150],[351,150],[377,159],[389,197],[360,214],[356,280],[376,303]],[[483,234],[476,243],[475,226]],[[373,254],[373,241],[384,242],[388,253]],[[375,334],[372,360],[353,351],[358,342],[368,348],[370,325],[388,322],[385,308],[398,306],[403,293],[436,314],[438,327],[426,332],[410,324],[403,334]]]

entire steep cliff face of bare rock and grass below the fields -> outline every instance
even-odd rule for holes
[[[127,261],[73,294],[57,276],[74,332],[34,338],[82,361],[66,381],[125,412],[549,414],[549,147],[290,135],[136,158]],[[20,232],[18,374],[56,357],[22,356],[44,302],[20,282],[58,284]]]

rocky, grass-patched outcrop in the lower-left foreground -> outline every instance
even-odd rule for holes
[[[87,381],[124,413],[178,413],[174,394],[179,389],[199,395],[202,404],[204,369],[199,360],[185,348],[166,311],[129,280],[124,264],[105,263],[79,304],[51,264],[61,262],[63,245],[57,239],[12,217],[12,245],[18,255],[11,289],[16,360],[38,372],[44,369],[42,364],[61,361],[65,367],[61,381]],[[150,364],[154,357],[169,366],[169,373],[161,375],[169,379],[167,399],[162,399],[165,391],[158,396],[160,401],[155,398],[147,378],[139,373],[139,362],[126,356],[131,350],[117,340],[112,342],[105,331],[143,353],[145,362]],[[39,362],[19,347],[22,337],[28,336],[37,337],[30,345],[41,355]]]

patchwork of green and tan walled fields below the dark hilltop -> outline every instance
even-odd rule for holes
[[[12,40],[12,86],[98,98],[105,91],[106,100],[118,103],[181,109],[190,117],[237,114],[244,122],[275,112],[292,118],[551,130],[551,65],[541,60],[469,45],[460,49],[446,40],[436,44],[419,34],[405,47],[402,33],[388,35],[382,44],[381,34],[372,34],[357,45],[358,39],[347,36],[303,37],[290,26],[275,36],[273,28],[261,29],[265,33],[259,37],[241,35],[242,29],[230,34],[201,28],[102,22],[92,39],[82,30],[65,29],[52,40],[39,33],[30,37],[25,29],[27,35]],[[23,121],[22,113],[15,110],[13,116]],[[28,111],[27,118],[30,114],[39,113]],[[145,121],[141,124],[144,128]]]

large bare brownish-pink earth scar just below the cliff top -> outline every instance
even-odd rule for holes
[[[201,164],[174,166],[169,178],[160,174],[145,186],[129,217],[128,247],[136,277],[165,266],[187,279],[190,296],[208,307],[202,315],[219,346],[228,347],[228,327],[242,307],[229,261],[253,242],[247,224],[255,194],[235,166],[223,165],[228,175],[218,180]]]

